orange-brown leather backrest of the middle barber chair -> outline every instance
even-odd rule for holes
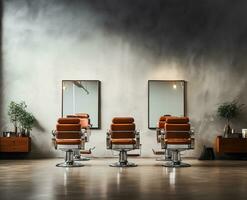
[[[135,138],[135,123],[132,117],[115,117],[111,124],[111,138]]]

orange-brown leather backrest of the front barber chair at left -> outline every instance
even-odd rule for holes
[[[56,126],[57,139],[80,139],[81,124],[78,118],[59,118]]]

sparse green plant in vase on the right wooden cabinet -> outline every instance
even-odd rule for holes
[[[226,125],[224,127],[224,137],[229,137],[231,135],[232,129],[230,122],[241,113],[243,106],[244,104],[239,104],[237,100],[225,102],[219,105],[217,114],[219,117],[226,120]]]

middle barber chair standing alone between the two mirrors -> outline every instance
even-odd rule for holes
[[[136,167],[127,160],[127,152],[140,149],[140,134],[136,131],[134,118],[115,117],[106,138],[107,149],[119,151],[119,161],[111,167]]]

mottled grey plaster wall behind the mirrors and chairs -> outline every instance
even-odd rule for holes
[[[187,155],[198,156],[222,133],[217,104],[247,100],[246,10],[244,0],[6,0],[2,123],[7,128],[9,101],[25,100],[39,122],[32,156],[59,155],[50,132],[61,113],[61,80],[98,79],[102,129],[92,132],[94,155],[111,155],[105,148],[111,118],[131,115],[143,156],[152,156],[159,145],[147,128],[147,80],[184,79],[197,131],[196,149]],[[243,114],[234,128],[246,122]]]

